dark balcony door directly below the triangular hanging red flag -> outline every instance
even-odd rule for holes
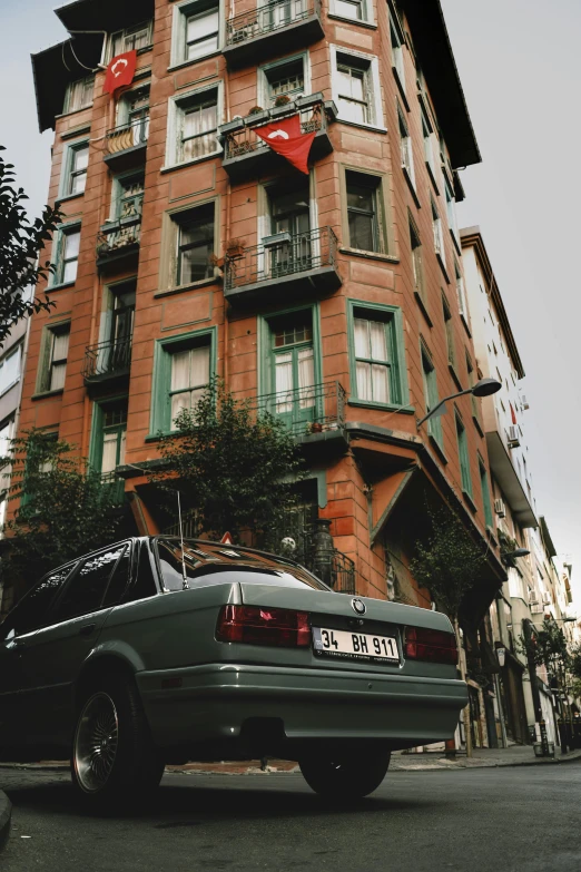
[[[308,180],[295,182],[292,189],[274,188],[269,200],[270,232],[288,233],[290,236],[289,242],[278,243],[270,249],[273,277],[311,270],[313,251]]]

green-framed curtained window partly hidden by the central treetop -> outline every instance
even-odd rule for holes
[[[190,398],[197,391],[201,391],[214,379],[217,369],[217,326],[205,330],[196,330],[189,333],[180,333],[169,339],[156,340],[154,351],[154,378],[151,395],[151,418],[150,433],[148,438],[157,438],[159,434],[167,435],[176,432],[173,427],[173,398],[179,393],[188,393]],[[208,381],[205,384],[188,383],[177,385],[176,378],[173,383],[173,360],[178,360],[174,355],[179,354],[183,364],[187,368],[187,361],[184,353],[197,350],[208,349],[209,365]],[[190,376],[193,375],[189,370]]]

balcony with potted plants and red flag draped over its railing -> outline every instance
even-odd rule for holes
[[[303,133],[315,133],[309,159],[318,160],[333,151],[328,125],[337,117],[335,104],[333,100],[325,102],[322,94],[298,97],[284,107],[265,110],[259,116],[248,115],[246,118],[221,125],[218,129],[224,145],[221,165],[232,182],[244,182],[254,176],[268,175],[283,166],[285,158],[273,151],[256,136],[256,128],[297,112]]]

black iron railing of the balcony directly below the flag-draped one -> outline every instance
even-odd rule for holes
[[[260,245],[226,255],[225,290],[336,266],[337,237],[331,227],[290,235],[279,233]]]

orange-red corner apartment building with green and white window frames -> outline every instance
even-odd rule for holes
[[[117,469],[136,529],[157,531],[141,464],[216,373],[304,444],[307,513],[331,519],[357,592],[430,606],[407,567],[441,502],[488,549],[481,617],[503,569],[477,401],[416,424],[479,375],[454,204],[456,168],[480,155],[437,0],[77,0],[57,14],[71,38],[33,70],[66,218],[21,427]],[[134,48],[112,98],[105,67]],[[297,112],[315,134],[308,175],[255,133]]]

